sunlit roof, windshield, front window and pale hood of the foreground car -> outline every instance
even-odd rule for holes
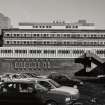
[[[68,86],[61,86],[57,82],[53,81],[52,79],[45,79],[45,78],[24,78],[21,80],[27,80],[27,81],[34,81],[36,83],[37,89],[44,89],[44,90],[50,90],[50,92],[65,92],[72,97],[73,100],[77,100],[79,98],[79,90],[74,87],[68,87]]]

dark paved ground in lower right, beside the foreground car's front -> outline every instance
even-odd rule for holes
[[[86,82],[79,87],[83,105],[105,105],[105,85]]]

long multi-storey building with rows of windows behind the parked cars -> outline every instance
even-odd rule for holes
[[[105,58],[105,30],[93,23],[19,23],[2,30],[0,58],[13,70],[63,69],[70,60],[93,53]]]

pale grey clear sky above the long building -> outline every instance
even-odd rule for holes
[[[19,22],[77,22],[86,19],[105,28],[105,0],[0,0],[0,13]]]

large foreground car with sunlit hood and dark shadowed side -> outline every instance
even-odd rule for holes
[[[0,103],[35,103],[35,105],[71,105],[79,91],[61,87],[50,79],[18,80],[0,84]]]

